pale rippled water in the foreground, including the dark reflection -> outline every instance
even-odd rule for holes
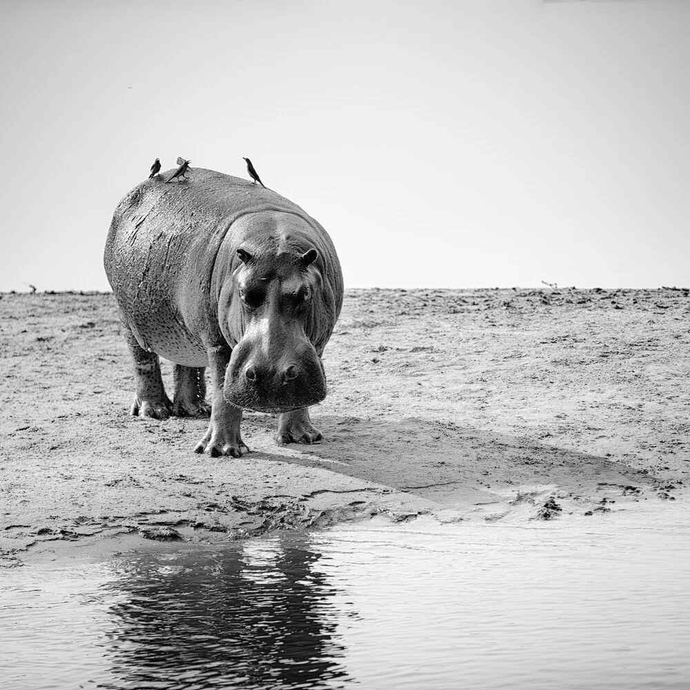
[[[0,687],[687,689],[690,511],[653,508],[0,571]]]

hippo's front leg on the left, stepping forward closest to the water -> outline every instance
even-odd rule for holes
[[[242,422],[242,408],[235,407],[223,397],[225,371],[230,362],[232,351],[228,346],[208,348],[208,368],[211,378],[211,420],[208,431],[197,443],[195,453],[208,453],[211,457],[231,455],[240,457],[249,449],[239,435],[239,424]]]

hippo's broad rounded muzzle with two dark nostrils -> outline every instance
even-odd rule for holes
[[[227,402],[257,412],[284,413],[324,400],[321,359],[295,326],[261,319],[248,328],[226,370]]]

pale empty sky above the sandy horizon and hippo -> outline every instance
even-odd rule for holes
[[[0,290],[109,289],[178,156],[250,157],[347,287],[690,285],[688,0],[4,0],[0,39]]]

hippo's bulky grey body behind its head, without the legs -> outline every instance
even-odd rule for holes
[[[319,251],[333,295],[330,335],[343,284],[326,230],[297,204],[247,180],[191,168],[188,180],[166,184],[172,172],[146,179],[120,201],[103,257],[121,317],[139,345],[179,364],[206,364],[204,337],[218,332],[216,263],[237,249],[242,233],[233,233],[235,221],[267,212],[299,218],[306,241]]]

